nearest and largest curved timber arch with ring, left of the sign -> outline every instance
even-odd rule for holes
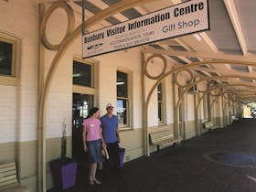
[[[100,13],[91,16],[85,21],[86,29],[90,29],[101,20],[120,13],[136,5],[142,5],[155,0],[122,0],[104,10]],[[68,28],[65,37],[59,44],[51,44],[46,36],[46,28],[48,18],[58,8],[62,8],[68,16]],[[39,4],[39,74],[38,74],[38,117],[37,117],[37,130],[38,130],[38,191],[46,192],[46,101],[48,100],[48,91],[51,81],[54,78],[56,70],[59,66],[59,61],[63,58],[68,48],[72,45],[75,39],[81,36],[82,23],[75,27],[74,11],[71,6],[62,0],[53,2],[47,8],[44,4]],[[51,61],[50,67],[45,74],[45,59],[44,51],[56,51],[54,58]],[[46,75],[46,78],[45,78]]]

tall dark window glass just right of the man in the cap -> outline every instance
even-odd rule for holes
[[[117,117],[120,127],[129,126],[128,74],[117,71]]]

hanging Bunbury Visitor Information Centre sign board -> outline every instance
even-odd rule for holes
[[[208,0],[191,0],[83,35],[82,57],[90,58],[208,29]]]

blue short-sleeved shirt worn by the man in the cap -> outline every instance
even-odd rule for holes
[[[106,144],[117,142],[116,128],[118,128],[118,119],[116,115],[109,117],[105,114],[101,117],[102,135]]]

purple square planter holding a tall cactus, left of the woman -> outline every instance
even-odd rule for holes
[[[76,184],[77,162],[72,159],[66,159],[62,162],[60,159],[50,162],[51,173],[54,187],[67,189]]]

